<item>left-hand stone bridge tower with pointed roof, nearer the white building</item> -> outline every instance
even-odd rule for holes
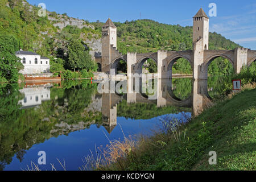
[[[111,64],[111,47],[117,49],[117,27],[109,18],[104,26],[102,26],[102,71],[110,72]]]

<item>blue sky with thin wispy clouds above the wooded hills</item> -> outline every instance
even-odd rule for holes
[[[256,50],[256,1],[246,0],[28,0],[32,5],[45,3],[46,9],[67,13],[90,22],[114,22],[152,19],[160,23],[192,26],[192,17],[200,7],[208,14],[210,3],[217,5],[217,16],[210,17],[210,31],[217,32],[243,47]]]

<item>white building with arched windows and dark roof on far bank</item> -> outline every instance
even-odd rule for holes
[[[24,65],[24,69],[20,71],[23,75],[49,73],[49,58],[29,51],[17,51],[15,55],[21,59],[20,62]]]

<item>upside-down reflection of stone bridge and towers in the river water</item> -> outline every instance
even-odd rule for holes
[[[171,79],[155,80],[157,80],[154,88],[155,97],[146,96],[145,94],[141,94],[141,92],[135,92],[134,84],[132,84],[133,81],[130,81],[129,79],[127,81],[122,81],[123,84],[127,84],[126,94],[102,94],[102,120],[104,121],[105,129],[109,133],[111,133],[117,125],[117,105],[124,99],[127,101],[127,104],[146,103],[155,104],[159,108],[164,106],[192,108],[192,117],[196,117],[201,113],[201,111],[212,105],[212,101],[207,90],[207,80],[193,80],[192,92],[185,100],[180,100],[175,96],[172,90]],[[140,87],[142,86],[141,82],[142,81],[140,81]]]

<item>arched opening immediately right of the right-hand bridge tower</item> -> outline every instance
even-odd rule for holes
[[[234,73],[234,65],[228,57],[214,56],[207,63],[208,77],[228,76]]]

